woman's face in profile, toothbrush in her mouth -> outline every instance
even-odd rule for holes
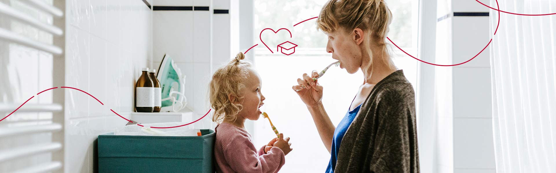
[[[356,31],[357,30],[357,31]],[[361,45],[363,45],[362,32],[356,28],[346,33],[343,29],[336,29],[328,35],[326,52],[332,53],[332,59],[340,61],[340,68],[345,68],[347,73],[354,74],[361,67]]]

